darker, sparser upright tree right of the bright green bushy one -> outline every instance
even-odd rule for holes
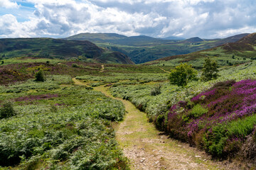
[[[217,62],[210,60],[210,58],[206,58],[205,63],[203,64],[201,79],[203,81],[209,81],[211,79],[217,79],[218,76]]]

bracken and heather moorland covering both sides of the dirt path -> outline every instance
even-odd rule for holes
[[[255,169],[251,38],[255,34],[230,45],[228,53],[224,45],[186,55],[186,61],[176,56],[153,66],[104,64],[102,69],[101,63],[80,60],[5,59],[0,67],[1,169],[129,169],[112,128],[112,122],[124,118],[124,105],[93,91],[101,85],[131,101],[167,135],[213,158],[237,159],[243,168]],[[242,57],[238,46],[244,42],[252,50],[244,55],[250,55],[228,64]],[[180,73],[185,79],[172,81]],[[35,81],[38,77],[43,81]],[[75,86],[73,77],[85,86]]]

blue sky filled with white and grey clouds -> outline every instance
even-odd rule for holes
[[[225,38],[255,33],[255,9],[255,0],[0,0],[0,38]]]

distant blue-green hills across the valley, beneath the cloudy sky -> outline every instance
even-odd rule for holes
[[[145,35],[127,37],[111,33],[81,33],[64,39],[90,40],[100,47],[122,52],[129,56],[134,63],[141,64],[163,57],[206,50],[227,42],[235,42],[245,35],[247,34],[215,40],[204,40],[202,38],[188,38],[187,40],[169,40],[167,38],[166,40],[163,38],[151,38]]]

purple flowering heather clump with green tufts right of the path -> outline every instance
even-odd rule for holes
[[[204,145],[214,156],[237,152],[254,130],[256,120],[251,117],[256,113],[255,80],[219,82],[189,102],[207,112],[192,115],[191,104],[180,101],[169,109],[166,131],[191,145]]]

